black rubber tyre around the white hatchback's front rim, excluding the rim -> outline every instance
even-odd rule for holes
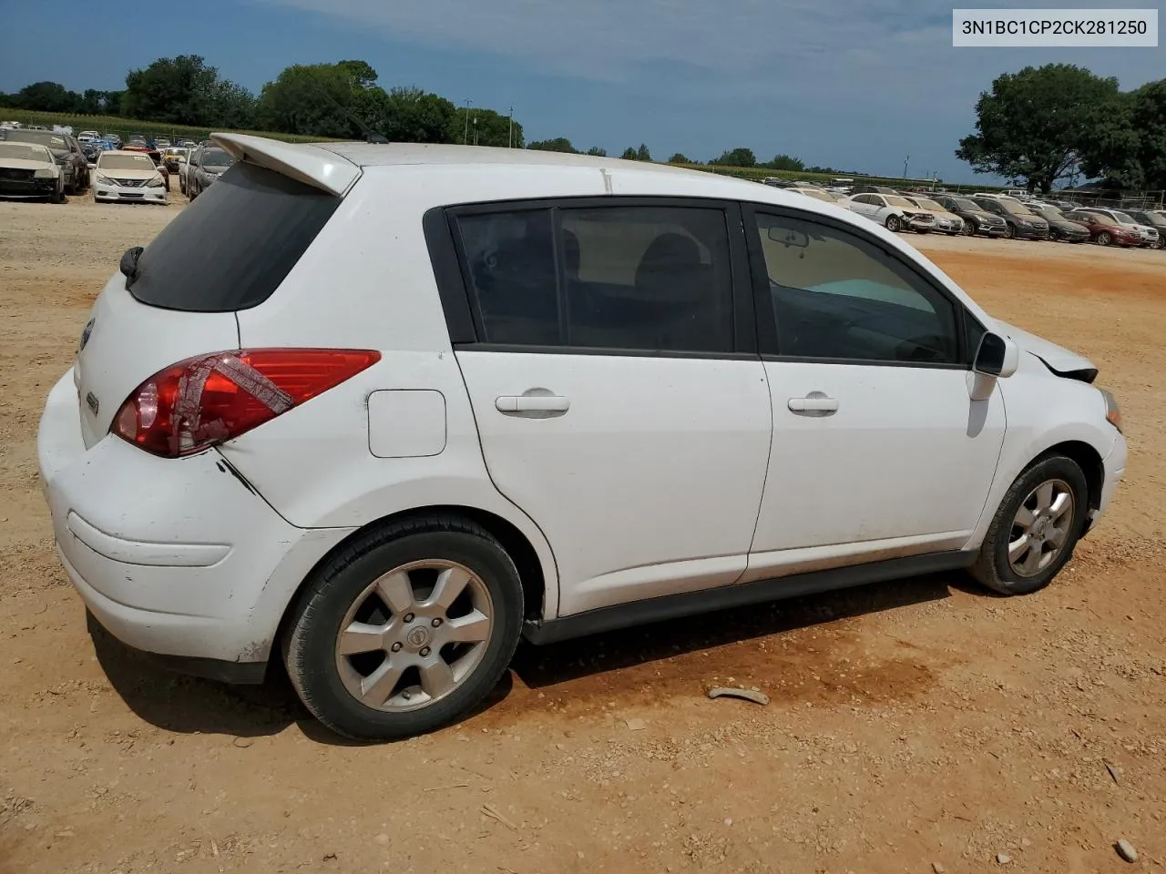
[[[1034,489],[1053,480],[1067,485],[1073,496],[1072,517],[1067,521],[1065,542],[1047,566],[1032,576],[1018,575],[1009,563],[1009,542],[1014,533],[1013,521],[1020,510],[1020,505],[1034,493]],[[1088,512],[1089,486],[1077,463],[1056,454],[1037,459],[1017,477],[1000,501],[1000,507],[979,548],[979,556],[971,566],[971,575],[981,584],[1000,594],[1028,594],[1044,588],[1073,557],[1073,549],[1081,537]]]

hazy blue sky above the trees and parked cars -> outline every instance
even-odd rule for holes
[[[953,151],[1000,72],[1068,62],[1125,89],[1166,75],[1161,48],[954,49],[951,6],[926,0],[3,0],[2,21],[3,91],[117,89],[178,54],[258,91],[288,64],[363,58],[385,87],[513,105],[528,140],[645,142],[658,160],[747,146],[888,175],[909,154],[912,176],[949,182],[975,178]]]

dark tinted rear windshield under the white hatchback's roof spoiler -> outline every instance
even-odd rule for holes
[[[287,176],[236,164],[146,247],[129,292],[152,306],[187,312],[258,306],[339,204]]]

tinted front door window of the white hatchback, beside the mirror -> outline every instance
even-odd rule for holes
[[[778,352],[954,364],[955,305],[876,246],[799,218],[758,216]]]

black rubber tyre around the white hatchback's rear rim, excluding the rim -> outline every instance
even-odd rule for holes
[[[375,710],[345,689],[337,667],[340,625],[378,577],[430,559],[470,570],[489,592],[492,625],[484,654],[458,685],[433,703],[416,710]],[[469,714],[506,671],[521,630],[522,584],[506,550],[473,522],[435,515],[371,530],[318,568],[296,601],[283,655],[292,685],[321,723],[358,740],[394,740]]]

